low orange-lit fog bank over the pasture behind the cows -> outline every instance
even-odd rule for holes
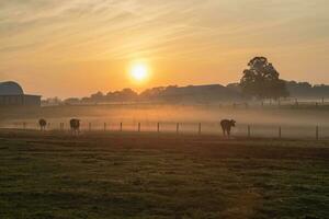
[[[219,105],[94,105],[53,106],[42,108],[1,110],[1,128],[37,129],[37,120],[45,118],[48,129],[59,129],[59,124],[76,117],[81,119],[81,130],[141,131],[197,134],[198,124],[204,135],[220,135],[219,122],[224,118],[237,120],[236,136],[247,136],[248,126],[254,137],[277,137],[279,127],[283,137],[315,137],[316,126],[322,138],[329,137],[329,111],[326,108],[270,108],[238,107]],[[106,124],[106,127],[104,127]]]

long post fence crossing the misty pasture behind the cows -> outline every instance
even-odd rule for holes
[[[39,130],[37,123],[16,122],[2,128]],[[46,130],[69,130],[68,123],[48,123]],[[82,122],[80,130],[88,131],[113,131],[113,132],[167,132],[177,135],[223,135],[219,123],[173,123],[173,122]],[[273,125],[248,125],[239,124],[232,128],[232,136],[237,137],[264,137],[264,138],[304,138],[304,139],[329,139],[329,126],[273,126]]]

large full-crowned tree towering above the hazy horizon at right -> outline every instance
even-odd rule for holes
[[[254,57],[248,66],[240,81],[246,95],[274,100],[288,96],[285,81],[265,57]]]

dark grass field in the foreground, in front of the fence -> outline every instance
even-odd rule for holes
[[[0,131],[0,218],[328,218],[329,142]]]

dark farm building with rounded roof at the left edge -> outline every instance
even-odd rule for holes
[[[20,84],[13,81],[0,82],[0,106],[39,106],[41,95],[24,94]]]

